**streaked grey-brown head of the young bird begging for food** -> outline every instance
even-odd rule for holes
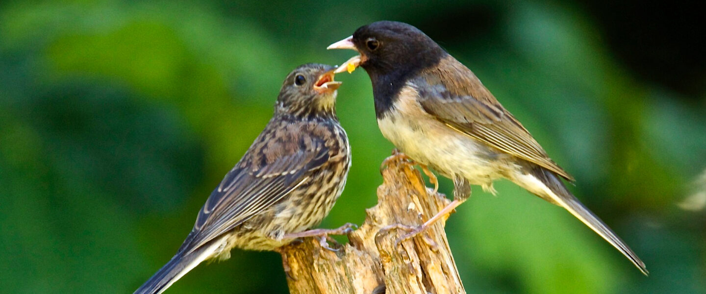
[[[335,118],[336,90],[341,82],[333,80],[335,67],[307,63],[294,69],[282,83],[275,114],[299,118]]]

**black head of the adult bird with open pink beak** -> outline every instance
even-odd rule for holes
[[[331,44],[328,49],[353,49],[359,57],[344,64],[340,71],[362,66],[376,78],[381,75],[406,75],[434,66],[445,55],[429,36],[412,25],[378,21],[359,27],[351,37]]]

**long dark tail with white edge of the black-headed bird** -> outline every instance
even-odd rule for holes
[[[551,171],[547,171],[539,166],[533,166],[529,168],[529,173],[523,173],[521,176],[515,177],[515,183],[533,192],[535,195],[542,197],[544,200],[557,204],[568,210],[573,216],[585,223],[586,226],[591,228],[594,232],[598,233],[602,238],[604,238],[608,243],[611,243],[618,251],[623,253],[630,262],[638,267],[642,274],[649,274],[645,263],[640,260],[638,255],[626,245],[623,240],[621,240],[616,233],[614,233],[611,228],[606,226],[601,219],[598,218],[593,212],[588,210],[581,202],[574,197],[566,189],[566,186],[561,181],[561,179],[556,176],[556,174]]]

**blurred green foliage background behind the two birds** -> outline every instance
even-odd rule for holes
[[[651,272],[501,181],[448,221],[469,293],[706,293],[706,25],[697,8],[635,0],[4,1],[0,293],[131,293],[176,252],[285,75],[345,61],[325,47],[382,19],[472,68]],[[392,149],[366,73],[338,79],[354,164],[325,227],[361,223]],[[233,250],[168,293],[287,286],[279,255]]]

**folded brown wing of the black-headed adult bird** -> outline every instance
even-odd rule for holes
[[[444,78],[441,78],[444,77]],[[468,68],[448,56],[414,80],[424,110],[450,128],[574,180]]]

